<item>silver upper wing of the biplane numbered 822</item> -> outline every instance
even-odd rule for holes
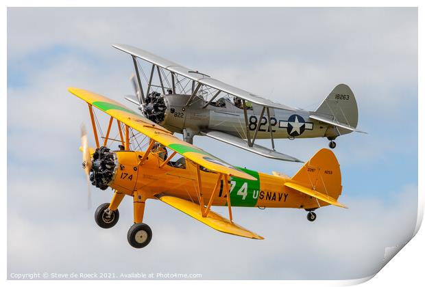
[[[124,45],[124,44],[114,44],[112,45],[114,48],[119,49],[125,53],[129,53],[130,55],[134,55],[135,57],[139,57],[144,59],[145,61],[149,61],[156,66],[160,66],[161,68],[165,68],[171,72],[175,72],[176,74],[180,74],[183,77],[201,83],[202,85],[207,85],[209,87],[213,87],[216,90],[220,90],[227,94],[231,94],[233,96],[237,96],[239,98],[243,98],[244,100],[254,102],[258,105],[262,105],[264,107],[271,107],[274,109],[287,109],[291,111],[295,111],[296,109],[289,107],[287,105],[279,104],[278,102],[274,102],[271,100],[267,100],[258,96],[256,94],[252,94],[250,92],[239,89],[239,87],[233,87],[232,85],[228,85],[214,79],[206,74],[198,72],[197,70],[192,70],[181,66],[179,64],[174,63],[173,61],[169,61],[152,53],[149,53],[145,50],[138,49],[134,46]]]

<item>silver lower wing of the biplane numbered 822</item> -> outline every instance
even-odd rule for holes
[[[234,135],[229,135],[228,133],[223,133],[220,131],[202,131],[201,134],[206,135],[212,139],[217,139],[219,141],[231,144],[232,146],[243,148],[249,152],[254,152],[254,154],[260,154],[261,156],[268,157],[269,159],[279,159],[280,161],[295,161],[296,163],[302,163],[302,161],[295,159],[295,157],[276,152],[276,150],[270,150],[269,148],[259,146],[255,143],[253,146],[248,146],[247,141],[244,139],[235,137]]]

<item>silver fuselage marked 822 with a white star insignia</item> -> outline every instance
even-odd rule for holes
[[[227,98],[221,100],[221,103],[224,103],[221,107],[210,104],[205,109],[203,107],[206,105],[206,101],[200,98],[195,98],[189,107],[185,107],[189,95],[169,94],[164,98],[167,103],[167,111],[165,120],[160,124],[171,131],[183,133],[184,129],[188,128],[195,135],[199,135],[200,131],[215,130],[246,138],[243,109],[236,107]],[[247,109],[250,133],[254,134],[259,125],[257,139],[269,139],[271,137],[270,128],[274,139],[335,138],[350,132],[347,130],[337,131],[335,126],[313,120],[309,118],[311,111],[300,109],[296,111],[269,109],[270,120],[267,113],[264,113],[260,120],[262,109],[262,106],[255,104],[251,109]],[[329,119],[332,120],[332,117],[329,116]]]

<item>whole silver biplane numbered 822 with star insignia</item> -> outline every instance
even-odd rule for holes
[[[193,143],[195,135],[206,135],[271,159],[300,162],[276,151],[274,140],[327,137],[329,147],[335,148],[340,135],[363,133],[356,128],[357,103],[348,85],[337,85],[315,111],[304,111],[134,46],[112,46],[131,55],[136,71],[132,77],[136,96],[125,98],[149,120],[181,133],[186,142]],[[271,139],[271,149],[258,145],[256,139]]]

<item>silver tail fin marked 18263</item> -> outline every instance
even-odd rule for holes
[[[315,111],[315,115],[327,118],[343,126],[356,128],[359,120],[359,111],[356,98],[354,98],[350,87],[345,84],[337,85],[328,97],[321,102],[321,105]]]

